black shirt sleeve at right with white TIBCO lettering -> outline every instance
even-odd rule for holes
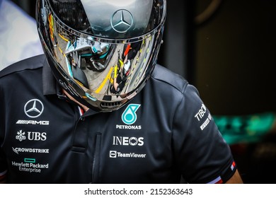
[[[173,149],[188,183],[223,183],[236,171],[229,145],[191,85],[185,88],[173,120]]]

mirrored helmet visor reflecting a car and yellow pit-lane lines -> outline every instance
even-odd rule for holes
[[[47,20],[50,25],[48,51],[62,73],[81,86],[86,96],[125,95],[135,90],[147,76],[149,62],[154,56],[154,40],[159,33],[114,43],[72,33],[59,25],[51,14]]]

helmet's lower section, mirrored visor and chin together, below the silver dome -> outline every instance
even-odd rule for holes
[[[43,4],[41,4],[41,2]],[[97,111],[125,105],[154,70],[163,22],[139,37],[112,39],[74,30],[38,1],[38,33],[57,82],[79,103]]]

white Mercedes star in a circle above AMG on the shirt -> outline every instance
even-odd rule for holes
[[[29,100],[24,106],[25,115],[28,117],[39,117],[44,110],[42,102],[38,99]]]

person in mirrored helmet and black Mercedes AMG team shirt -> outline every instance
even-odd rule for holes
[[[36,8],[45,54],[0,72],[1,182],[242,183],[197,89],[156,64],[166,0]],[[125,44],[136,42],[111,93]]]

